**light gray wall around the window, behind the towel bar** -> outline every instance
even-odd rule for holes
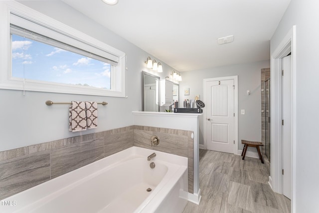
[[[144,61],[148,56],[160,60],[61,1],[21,2],[125,52],[128,67],[126,71],[128,98],[28,91],[23,96],[21,91],[0,89],[0,151],[133,125],[131,112],[142,109],[141,72],[148,71]],[[164,78],[172,72],[172,68],[164,63],[161,64],[163,66],[161,75],[150,72]],[[72,133],[68,131],[68,105],[46,106],[45,100],[107,101],[109,104],[99,106],[97,129]]]

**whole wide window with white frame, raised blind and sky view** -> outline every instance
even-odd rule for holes
[[[125,97],[124,52],[17,2],[6,6],[0,88]]]

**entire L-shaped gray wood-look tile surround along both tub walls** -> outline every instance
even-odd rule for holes
[[[150,133],[161,140],[154,150],[188,157],[188,191],[193,193],[192,132],[128,126],[0,152],[0,200],[132,146],[152,149],[151,136],[141,141]]]

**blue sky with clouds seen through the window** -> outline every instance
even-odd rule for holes
[[[12,77],[23,69],[26,79],[110,89],[110,64],[12,34]]]

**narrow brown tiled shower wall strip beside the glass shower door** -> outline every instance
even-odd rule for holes
[[[261,91],[261,110],[265,110],[266,108],[268,109],[268,101],[267,101],[267,93],[266,93],[266,88],[264,88],[264,81],[270,78],[270,68],[264,68],[261,69],[261,88],[264,91]],[[266,100],[266,101],[265,101]],[[265,143],[265,135],[269,131],[269,125],[266,125],[266,122],[268,123],[268,116],[265,117],[266,111],[261,112],[261,127],[262,127],[262,134],[261,134],[261,141],[264,145],[262,148],[262,154],[265,155],[265,150],[269,149],[269,145],[267,144],[268,147],[266,147]]]

